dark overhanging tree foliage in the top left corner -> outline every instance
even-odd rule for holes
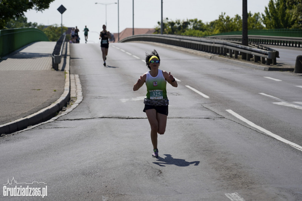
[[[0,1],[0,30],[5,29],[10,19],[24,17],[24,12],[29,9],[43,11],[49,8],[54,0],[1,0]]]

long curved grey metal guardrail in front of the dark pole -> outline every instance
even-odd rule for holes
[[[203,52],[214,53],[219,55],[228,55],[231,58],[237,59],[238,55],[246,54],[246,60],[250,60],[254,57],[254,62],[262,61],[263,64],[276,64],[276,50],[263,49],[260,47],[243,46],[241,44],[233,43],[226,40],[211,39],[204,37],[189,37],[189,36],[177,36],[168,34],[139,34],[130,37],[126,37],[119,42],[130,41],[149,41],[157,43],[165,43],[174,46],[185,47],[189,49],[195,49]],[[244,58],[244,57],[242,57]],[[266,62],[265,62],[266,59]]]

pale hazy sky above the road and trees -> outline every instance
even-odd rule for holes
[[[103,3],[110,5],[95,4]],[[89,29],[88,42],[98,43],[98,36],[102,25],[106,24],[107,7],[107,30],[111,33],[118,32],[117,24],[117,0],[55,0],[49,9],[41,12],[27,11],[25,16],[28,22],[38,24],[61,25],[61,14],[57,11],[60,5],[67,10],[63,13],[63,26],[75,27],[80,30],[81,43],[85,43],[83,29],[85,25]],[[119,31],[133,27],[133,0],[119,0]],[[264,13],[269,0],[248,0],[248,11]],[[234,17],[242,16],[242,0],[163,0],[163,18],[171,20],[194,19],[204,23],[218,19],[219,15]],[[134,27],[154,28],[161,20],[161,0],[134,0]]]

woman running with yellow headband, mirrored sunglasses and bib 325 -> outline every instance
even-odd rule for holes
[[[146,53],[146,65],[150,71],[141,75],[133,86],[133,91],[137,91],[146,83],[147,94],[144,99],[144,110],[151,127],[151,142],[153,145],[152,157],[158,157],[157,133],[165,133],[169,100],[167,97],[166,83],[177,87],[177,81],[171,72],[159,70],[160,58],[156,50]]]

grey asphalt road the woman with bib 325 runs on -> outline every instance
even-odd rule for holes
[[[98,45],[70,49],[83,101],[54,122],[0,139],[3,184],[12,177],[47,183],[45,200],[302,199],[300,74],[144,43],[111,44],[104,67]],[[132,91],[153,49],[159,68],[179,80],[167,85],[159,158],[151,157],[142,111],[146,88]]]

